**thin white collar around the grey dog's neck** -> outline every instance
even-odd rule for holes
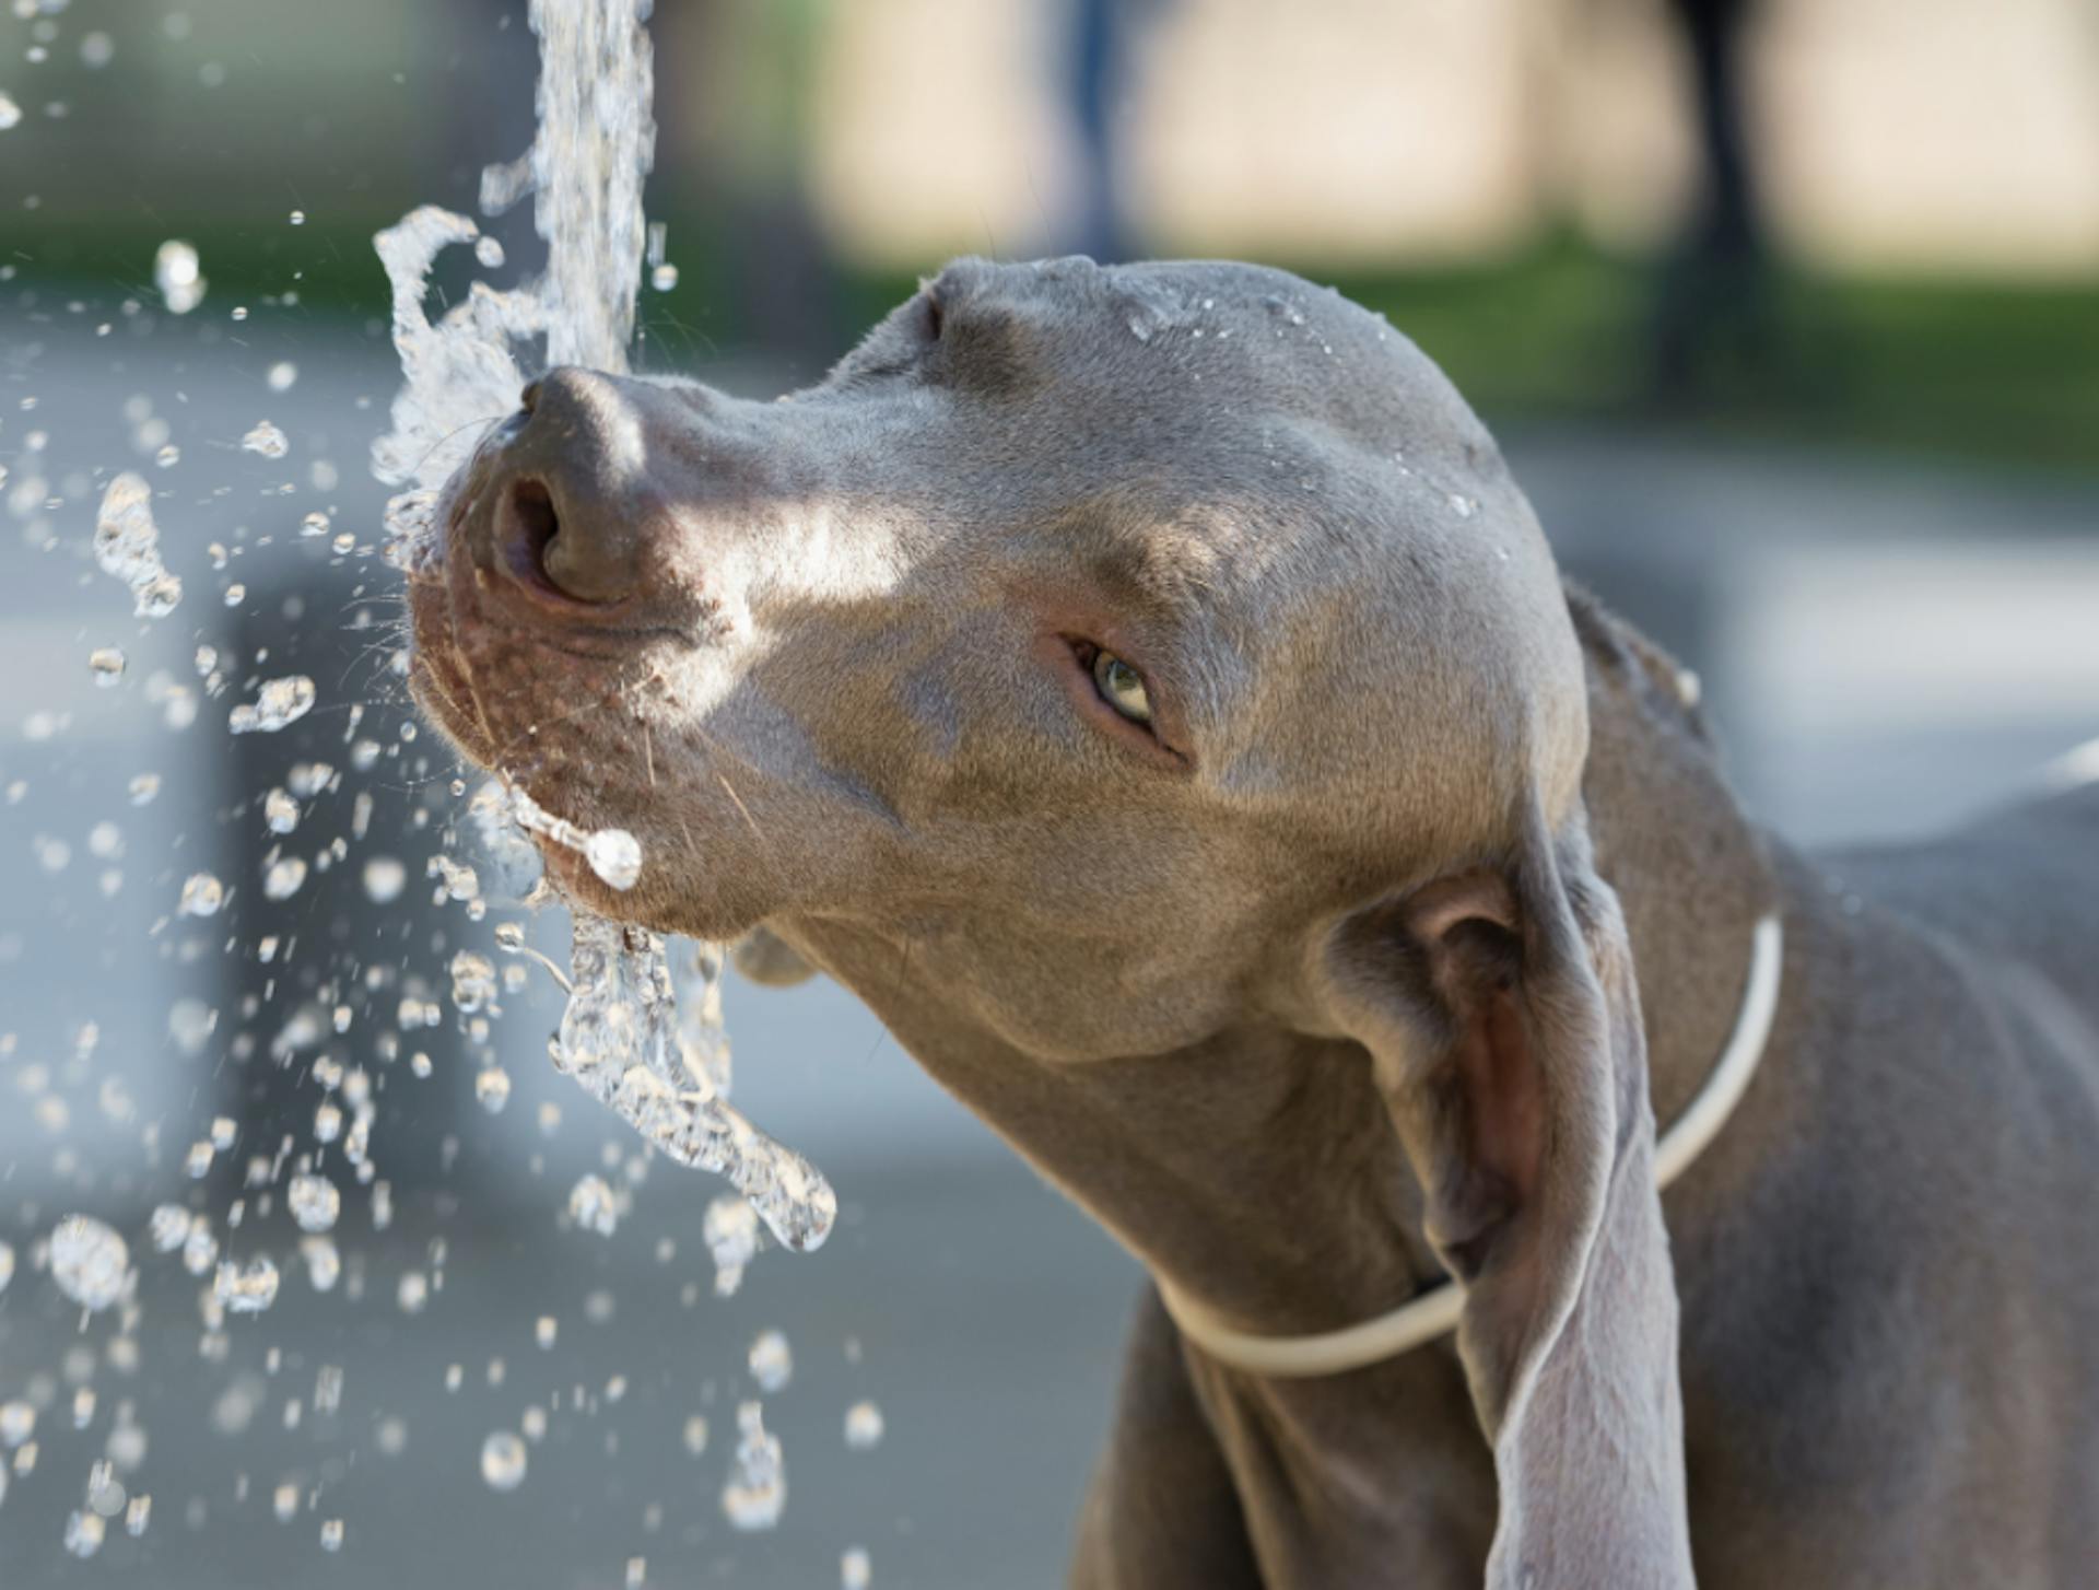
[[[1757,1061],[1763,1059],[1763,1044],[1772,1035],[1772,1019],[1778,1014],[1782,964],[1784,930],[1778,916],[1759,918],[1751,939],[1748,979],[1742,985],[1734,1031],[1727,1035],[1719,1061],[1706,1073],[1698,1096],[1654,1145],[1656,1187],[1669,1187],[1690,1170],[1704,1147],[1719,1136],[1719,1128],[1727,1124],[1727,1115],[1748,1090]],[[1438,1336],[1448,1336],[1457,1330],[1459,1311],[1465,1306],[1463,1288],[1444,1281],[1427,1292],[1417,1292],[1392,1313],[1364,1319],[1360,1325],[1343,1325],[1316,1336],[1251,1336],[1222,1323],[1165,1279],[1154,1279],[1159,1298],[1173,1323],[1180,1325],[1182,1336],[1234,1369],[1280,1378],[1341,1374],[1394,1359]]]

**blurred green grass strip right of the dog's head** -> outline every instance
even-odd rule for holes
[[[1935,284],[1780,269],[1748,349],[1658,393],[1658,271],[1545,248],[1480,271],[1337,277],[1494,418],[1696,422],[1704,433],[2099,468],[2099,281]]]

